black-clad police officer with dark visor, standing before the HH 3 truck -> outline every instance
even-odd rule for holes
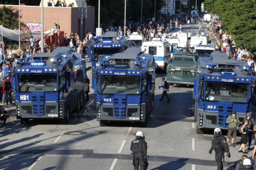
[[[214,136],[212,139],[212,147],[209,150],[209,154],[212,154],[212,151],[215,151],[215,160],[218,165],[218,170],[223,170],[222,158],[224,153],[227,153],[228,158],[230,158],[228,143],[226,138],[221,134],[220,128],[214,129]]]

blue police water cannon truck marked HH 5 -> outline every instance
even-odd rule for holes
[[[154,103],[154,56],[140,48],[128,48],[104,59],[94,69],[97,121],[101,126],[124,121],[146,127]]]

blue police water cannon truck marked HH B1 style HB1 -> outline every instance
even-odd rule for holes
[[[17,118],[22,124],[30,119],[59,119],[68,124],[70,113],[84,103],[86,64],[70,47],[59,47],[17,59],[11,68]]]

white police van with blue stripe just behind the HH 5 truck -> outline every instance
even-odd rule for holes
[[[157,69],[166,69],[170,58],[170,43],[161,41],[160,38],[153,38],[152,41],[143,42],[141,50],[152,54],[155,58],[155,67]]]

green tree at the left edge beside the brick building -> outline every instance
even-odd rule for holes
[[[0,25],[8,29],[19,28],[18,11],[15,11],[10,6],[0,8]]]

